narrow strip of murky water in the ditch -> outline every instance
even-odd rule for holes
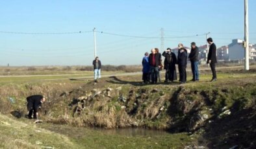
[[[156,136],[156,135],[170,135],[170,133],[163,130],[147,130],[144,128],[123,128],[123,129],[102,129],[94,128],[94,130],[99,131],[105,135],[125,135],[127,137],[134,136]]]

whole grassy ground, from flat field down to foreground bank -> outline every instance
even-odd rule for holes
[[[236,143],[248,147],[251,142],[246,140],[253,140],[253,110],[249,109],[255,105],[255,69],[244,72],[241,66],[221,67],[218,68],[218,81],[212,83],[209,82],[211,71],[206,68],[201,70],[200,82],[188,81],[184,85],[177,82],[142,85],[141,75],[136,73],[123,76],[125,74],[122,72],[106,72],[105,75],[113,73],[117,76],[104,77],[99,84],[94,84],[92,78],[88,77],[92,76],[92,72],[83,75],[2,76],[0,148],[185,148],[198,145],[207,148],[230,148]],[[69,80],[71,77],[84,79]],[[188,73],[188,80],[191,77]],[[113,89],[110,98],[104,94],[108,87]],[[84,100],[86,108],[81,114],[73,117],[75,107],[69,106],[73,99],[87,96],[94,89],[102,93],[99,97]],[[157,92],[152,92],[155,89]],[[145,98],[142,98],[142,92],[146,93]],[[47,97],[41,111],[41,118],[44,120],[42,124],[33,124],[32,120],[24,117],[27,112],[25,97],[33,94]],[[126,97],[127,102],[120,101],[120,95]],[[14,102],[10,102],[10,97]],[[125,109],[122,109],[122,106],[125,106]],[[162,107],[163,112],[159,111]],[[216,119],[224,107],[231,109],[231,116]],[[10,113],[13,111],[18,111],[21,118],[12,117]],[[191,122],[187,120],[194,119],[194,115],[198,113],[209,115],[209,120],[214,121],[212,126],[208,120],[202,123],[203,128],[197,123],[190,126]],[[234,119],[233,117],[244,117],[246,124],[230,120]],[[234,127],[231,130],[226,128],[228,122],[230,128]],[[244,128],[240,128],[240,125]],[[129,131],[120,134],[118,130],[116,133],[101,130],[131,126],[170,130],[171,133],[157,135],[156,131],[131,135]],[[101,129],[95,130],[91,127]],[[222,131],[225,131],[225,128],[228,131],[215,133],[211,128]],[[188,135],[188,132],[194,133]],[[234,134],[246,139],[237,141],[232,138]]]

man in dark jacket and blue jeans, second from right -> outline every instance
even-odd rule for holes
[[[198,59],[198,54],[199,50],[198,47],[196,47],[196,43],[192,42],[191,43],[191,52],[188,56],[190,62],[191,62],[191,69],[192,69],[192,74],[193,78],[192,81],[199,81],[199,71],[198,71],[198,64],[199,64],[199,59]]]

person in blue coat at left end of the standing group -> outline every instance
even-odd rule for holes
[[[150,72],[150,65],[149,65],[149,59],[148,59],[148,52],[145,53],[144,58],[142,59],[142,80],[144,84],[149,83],[149,72]]]

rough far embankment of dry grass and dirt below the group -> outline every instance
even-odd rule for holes
[[[255,80],[198,86],[109,84],[116,80],[106,78],[100,84],[24,84],[7,91],[2,87],[1,112],[12,111],[14,116],[23,117],[25,97],[42,93],[48,99],[41,111],[42,119],[55,124],[190,132],[199,134],[199,144],[210,148],[256,145]]]

